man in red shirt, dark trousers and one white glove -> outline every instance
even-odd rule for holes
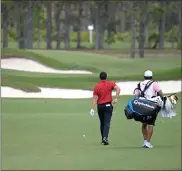
[[[116,90],[116,98],[112,100],[112,90]],[[111,81],[107,80],[107,73],[100,73],[100,82],[94,87],[92,109],[90,115],[94,115],[94,107],[97,104],[97,112],[100,120],[100,133],[102,137],[102,144],[109,145],[108,135],[110,129],[110,122],[113,112],[113,105],[117,103],[120,95],[120,88]]]

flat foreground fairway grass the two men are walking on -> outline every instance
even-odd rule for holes
[[[176,117],[158,117],[153,149],[141,148],[140,123],[126,120],[127,99],[114,108],[107,147],[100,145],[97,115],[89,115],[90,100],[2,99],[2,169],[180,169],[181,99]]]

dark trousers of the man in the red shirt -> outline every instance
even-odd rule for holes
[[[97,111],[100,119],[100,132],[102,139],[104,137],[107,139],[109,135],[113,106],[111,103],[98,104]]]

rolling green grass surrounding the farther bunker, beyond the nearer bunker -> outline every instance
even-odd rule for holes
[[[153,70],[155,80],[181,79],[181,59],[178,51],[173,56],[165,54],[162,58],[130,59],[79,51],[1,50],[4,58],[27,57],[56,69],[80,69],[94,73],[93,75],[63,75],[1,69],[3,86],[11,85],[20,89],[25,87],[30,91],[38,89],[38,86],[92,89],[98,82],[100,71],[106,71],[112,81],[142,80],[143,72],[147,69]],[[16,86],[14,86],[15,82],[18,82]]]

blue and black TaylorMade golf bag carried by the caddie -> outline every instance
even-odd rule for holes
[[[146,122],[154,115],[157,115],[161,107],[145,98],[134,97],[128,101],[124,112],[127,119],[134,119],[135,121]]]

